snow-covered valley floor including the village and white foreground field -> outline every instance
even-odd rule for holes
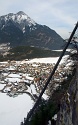
[[[56,58],[0,62],[0,124],[19,125],[37,100]],[[74,62],[64,56],[43,98],[72,73]]]

